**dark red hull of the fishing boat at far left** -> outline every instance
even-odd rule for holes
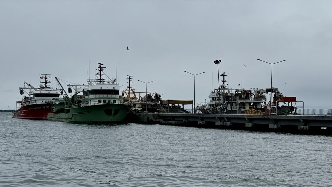
[[[29,104],[13,111],[13,118],[21,119],[47,119],[47,114],[51,112],[50,103]]]

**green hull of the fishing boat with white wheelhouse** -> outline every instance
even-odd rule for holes
[[[47,119],[50,121],[64,122],[121,122],[132,108],[126,104],[100,104],[78,108],[71,108],[66,113],[49,113]]]

